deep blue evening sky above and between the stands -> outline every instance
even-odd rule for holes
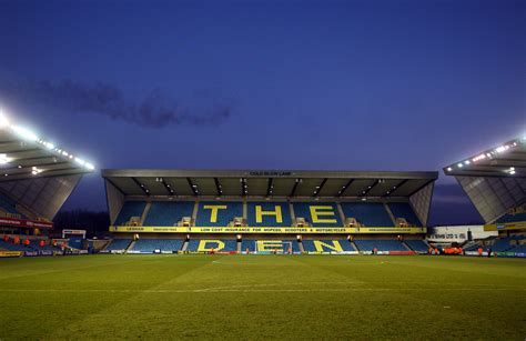
[[[1,0],[0,32],[0,107],[99,168],[438,170],[526,131],[526,1]],[[432,222],[477,219],[442,175]]]

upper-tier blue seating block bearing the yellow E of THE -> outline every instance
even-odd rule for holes
[[[335,202],[294,202],[293,207],[296,218],[304,218],[315,228],[343,227]]]

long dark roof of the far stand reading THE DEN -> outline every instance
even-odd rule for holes
[[[411,197],[437,172],[283,170],[102,170],[124,195],[387,198]]]

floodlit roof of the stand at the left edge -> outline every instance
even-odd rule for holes
[[[51,220],[92,163],[0,113],[0,192]]]

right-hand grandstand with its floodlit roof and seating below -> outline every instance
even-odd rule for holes
[[[506,255],[524,254],[526,235],[526,137],[507,141],[444,168],[455,177],[498,239],[479,241],[478,248]]]

